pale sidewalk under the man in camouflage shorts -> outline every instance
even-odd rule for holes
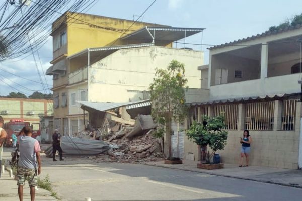
[[[5,171],[0,178],[0,200],[1,201],[19,201],[17,181],[9,177],[9,172]],[[23,188],[24,201],[30,200],[30,191],[28,183]],[[36,201],[55,201],[50,192],[41,188],[36,190]]]

